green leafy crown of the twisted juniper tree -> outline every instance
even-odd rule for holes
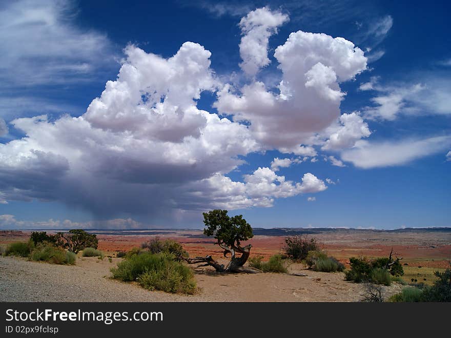
[[[229,247],[247,241],[254,235],[252,227],[244,220],[242,215],[229,217],[227,210],[211,210],[202,213],[203,223],[206,228],[203,233],[207,236],[214,236],[218,243],[223,243]]]

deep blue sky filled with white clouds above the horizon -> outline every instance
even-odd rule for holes
[[[449,227],[448,2],[0,2],[0,228]]]

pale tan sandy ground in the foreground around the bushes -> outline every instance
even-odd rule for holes
[[[194,295],[148,291],[137,284],[110,279],[110,268],[120,259],[79,257],[75,266],[29,262],[0,257],[2,302],[358,302],[362,285],[344,281],[343,273],[301,270],[278,273],[219,274],[210,267],[195,268],[199,290]],[[399,292],[394,283],[385,295]]]

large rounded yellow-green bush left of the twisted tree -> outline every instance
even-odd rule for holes
[[[138,281],[150,290],[182,293],[194,293],[196,290],[192,270],[175,261],[173,254],[146,251],[127,255],[111,272],[115,279]]]

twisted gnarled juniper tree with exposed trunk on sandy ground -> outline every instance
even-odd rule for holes
[[[203,223],[206,226],[203,233],[216,238],[216,244],[224,250],[224,257],[231,255],[229,263],[227,265],[220,264],[213,260],[211,255],[187,258],[185,261],[190,264],[204,263],[202,266],[211,265],[218,272],[260,272],[258,269],[243,266],[249,258],[252,245],[241,247],[241,241],[247,241],[254,236],[251,225],[244,220],[242,215],[229,217],[227,212],[227,210],[216,209],[204,212],[202,215]],[[237,256],[237,253],[240,253],[241,256]]]

